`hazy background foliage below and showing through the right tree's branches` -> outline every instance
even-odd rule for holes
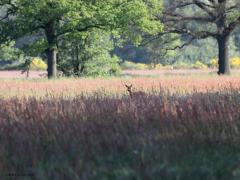
[[[178,0],[165,0],[164,6],[178,4],[181,1]],[[184,1],[183,1],[184,2]],[[204,0],[200,0],[200,2],[205,2]],[[209,1],[206,1],[209,3]],[[237,2],[236,0],[231,1],[231,3]],[[234,4],[234,3],[233,3]],[[232,5],[233,5],[232,4]],[[228,4],[229,5],[229,4]],[[235,8],[235,15],[239,12],[236,11]],[[180,11],[180,10],[179,10]],[[198,8],[196,6],[194,7],[185,7],[182,8],[182,12],[184,12],[185,16],[187,17],[198,17],[202,15],[201,8]],[[196,13],[197,12],[197,13]],[[178,12],[179,13],[179,12]],[[230,13],[230,12],[229,12]],[[206,16],[207,14],[204,14]],[[229,16],[230,17],[230,16]],[[228,18],[229,18],[228,17]],[[236,16],[235,16],[236,17]],[[180,19],[180,17],[178,17]],[[176,18],[176,19],[178,19]],[[174,19],[174,18],[173,18]],[[204,18],[203,18],[204,19]],[[168,22],[168,21],[167,21]],[[194,21],[182,21],[182,23],[178,23],[176,20],[176,24],[183,24],[187,22],[187,26],[185,28],[190,30],[203,30],[203,31],[210,31],[212,26],[207,23],[196,23]],[[167,23],[168,24],[168,23]],[[173,25],[169,23],[170,25]],[[166,30],[168,28],[165,26]],[[184,27],[183,27],[184,28]],[[184,28],[184,29],[185,29]],[[214,26],[214,28],[216,28]],[[171,29],[171,26],[169,27]],[[182,29],[182,28],[179,28]],[[231,38],[229,42],[229,50],[230,50],[230,56],[239,56],[239,50],[240,50],[240,28],[235,30],[234,33],[234,40]],[[163,33],[164,34],[164,33]],[[201,59],[201,61],[204,64],[208,64],[209,60],[212,57],[216,57],[218,55],[218,45],[216,43],[216,40],[207,38],[202,40],[195,40],[190,45],[185,46],[182,49],[176,49],[175,51],[168,51],[166,54],[166,49],[172,49],[177,46],[181,46],[181,44],[187,43],[190,40],[189,36],[186,35],[164,35],[164,36],[156,36],[155,38],[150,38],[146,40],[148,42],[145,46],[133,48],[130,46],[130,43],[125,45],[122,49],[116,49],[118,56],[121,57],[124,60],[131,60],[134,62],[142,62],[142,63],[161,63],[163,65],[167,64],[173,64],[176,61],[183,61],[188,64],[194,64],[196,60]],[[234,44],[235,43],[235,44]],[[236,48],[238,47],[238,48]]]

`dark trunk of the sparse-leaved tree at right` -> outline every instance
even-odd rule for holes
[[[229,35],[219,36],[218,42],[218,74],[230,74],[230,62],[229,62]]]

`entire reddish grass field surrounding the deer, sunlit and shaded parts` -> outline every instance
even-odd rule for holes
[[[2,179],[240,178],[238,75],[0,81]]]

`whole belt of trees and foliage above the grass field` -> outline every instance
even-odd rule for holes
[[[230,73],[239,56],[238,0],[3,0],[0,59],[29,65],[40,56],[48,77],[110,75],[125,60],[208,64]],[[14,45],[16,42],[16,45]],[[6,63],[6,62],[2,62]]]

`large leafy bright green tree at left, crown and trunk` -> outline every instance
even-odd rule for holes
[[[4,24],[10,38],[43,32],[48,78],[57,75],[58,41],[74,32],[92,29],[125,32],[140,41],[141,33],[156,33],[162,26],[154,19],[161,0],[15,0],[14,18]],[[11,8],[9,8],[11,10]],[[13,10],[12,10],[13,11]],[[3,26],[2,26],[3,27]],[[132,34],[131,28],[139,33]]]

